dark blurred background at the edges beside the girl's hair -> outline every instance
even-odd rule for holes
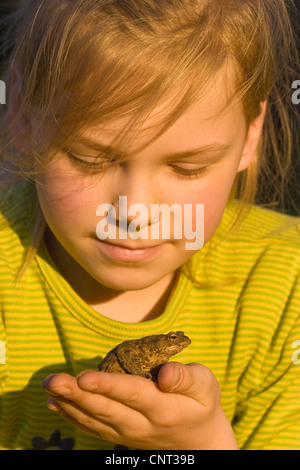
[[[237,0],[238,1],[238,0]],[[11,12],[15,11],[18,7],[19,2],[22,0],[10,0],[4,1],[0,0],[0,20],[2,18],[6,18]],[[298,49],[300,52],[300,0],[294,0],[296,8],[298,9],[299,16],[295,15],[295,12],[291,12],[291,20],[293,23],[293,27],[295,29],[297,42],[298,42]],[[9,26],[0,25],[0,79],[2,77],[3,71],[5,69],[6,61],[9,57],[10,49],[7,47],[7,37],[13,37],[14,31],[10,29]],[[300,70],[298,73],[299,76],[291,77],[291,85],[295,80],[300,80]],[[292,89],[291,89],[292,95]],[[293,139],[294,143],[298,143],[298,148],[300,148],[299,141],[300,141],[300,104],[293,105],[292,107],[292,121],[293,121]],[[285,205],[281,209],[277,209],[276,206],[272,205],[272,195],[269,195],[270,200],[265,200],[264,195],[258,195],[256,203],[257,204],[265,204],[270,203],[270,207],[273,210],[282,210],[287,212],[291,215],[298,215],[300,216],[300,155],[299,151],[293,152],[293,161],[294,161],[294,169],[295,174],[294,178],[291,182],[291,187],[289,188],[289,193],[292,196],[292,200],[294,203],[291,203],[289,200],[285,202]]]

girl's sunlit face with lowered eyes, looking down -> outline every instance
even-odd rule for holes
[[[119,165],[102,171],[105,154],[89,148],[86,142],[76,144],[73,158],[60,152],[58,159],[47,164],[38,178],[41,185],[37,184],[37,193],[54,234],[52,250],[59,253],[65,277],[68,269],[73,276],[74,270],[79,274],[84,269],[93,282],[96,280],[102,286],[118,291],[138,290],[174,273],[197,251],[186,249],[186,243],[193,240],[185,238],[184,226],[182,238],[177,239],[172,224],[169,239],[163,239],[161,231],[160,239],[151,239],[149,231],[148,239],[132,240],[128,234],[127,239],[100,241],[96,228],[103,215],[96,215],[96,210],[101,204],[113,205],[119,222],[120,196],[127,197],[128,209],[136,203],[148,209],[148,217],[143,218],[141,225],[149,227],[153,223],[152,204],[168,207],[179,204],[182,214],[184,205],[190,204],[195,230],[196,204],[204,204],[204,241],[212,237],[237,172],[247,168],[255,155],[264,113],[252,123],[247,134],[241,105],[236,103],[220,113],[226,102],[222,82],[211,86],[205,96],[204,102],[191,107],[165,134]],[[155,122],[152,115],[130,151],[149,140],[151,129],[147,127]],[[110,145],[121,125],[119,121],[95,127],[83,132],[82,137],[85,141]],[[179,155],[194,149],[201,151],[185,157]],[[97,166],[94,169],[82,166],[86,162]],[[127,222],[138,215],[128,216]],[[116,234],[118,238],[118,229]],[[145,251],[126,251],[116,245]],[[154,246],[155,249],[149,249]],[[76,263],[68,262],[70,256]]]

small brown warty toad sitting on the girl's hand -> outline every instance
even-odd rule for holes
[[[157,381],[161,365],[191,344],[183,331],[151,335],[118,344],[98,365],[102,372],[140,375]]]

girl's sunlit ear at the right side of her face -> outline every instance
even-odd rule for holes
[[[238,167],[238,172],[246,170],[248,168],[255,155],[256,150],[259,144],[259,139],[261,137],[264,120],[266,116],[266,109],[267,109],[267,101],[264,101],[260,104],[260,115],[251,122],[248,130],[247,140],[244,146],[242,158],[240,160],[240,164]]]

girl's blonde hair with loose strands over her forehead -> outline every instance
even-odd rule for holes
[[[2,171],[12,179],[34,182],[36,163],[44,162],[45,155],[55,157],[59,149],[76,142],[84,128],[95,124],[131,117],[121,139],[125,142],[131,129],[138,132],[151,112],[173,97],[174,105],[153,141],[201,99],[208,77],[227,70],[227,88],[234,84],[235,89],[228,105],[240,100],[247,126],[260,114],[260,103],[268,102],[257,158],[238,173],[232,188],[230,199],[240,201],[240,210],[231,230],[257,198],[262,200],[266,188],[266,204],[284,210],[287,182],[294,177],[291,83],[299,70],[288,12],[290,8],[295,14],[292,1],[27,0],[21,4],[10,18],[14,39],[9,63],[18,64],[22,100],[14,122],[3,113],[0,131]],[[5,44],[11,47],[9,34]],[[9,68],[4,79],[9,90]],[[30,152],[18,150],[10,137],[11,126],[37,118],[43,141],[33,136]],[[32,246],[17,279],[35,256],[45,227],[37,206]]]

